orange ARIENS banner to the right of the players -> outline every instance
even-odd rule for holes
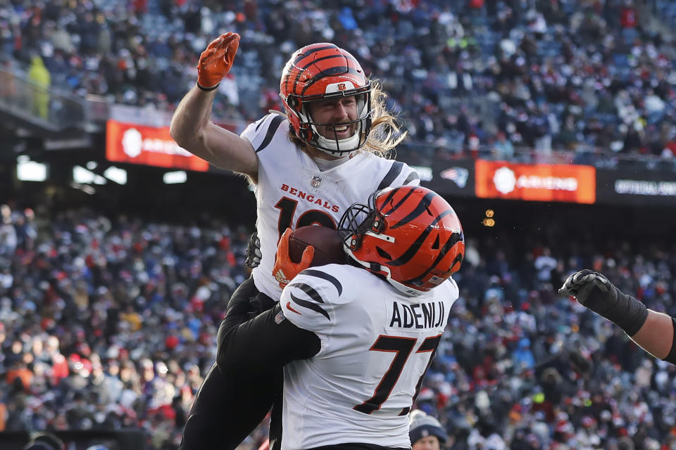
[[[477,197],[594,203],[596,168],[584,165],[475,162]]]

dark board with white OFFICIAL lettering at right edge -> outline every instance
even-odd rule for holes
[[[676,205],[676,172],[599,169],[599,202],[624,205]]]

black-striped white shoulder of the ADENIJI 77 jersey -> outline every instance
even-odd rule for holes
[[[284,316],[299,328],[320,331],[335,323],[335,310],[352,297],[344,265],[305,269],[282,291]]]

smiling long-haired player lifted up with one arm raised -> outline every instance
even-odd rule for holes
[[[272,299],[265,309],[280,298],[286,274],[297,269],[288,258],[275,260],[285,230],[308,224],[335,229],[350,205],[376,189],[420,180],[411,167],[384,158],[405,134],[398,134],[377,84],[333,44],[312,44],[291,56],[280,80],[285,113],[266,115],[241,136],[213,124],[212,101],[238,46],[239,35],[226,33],[201,53],[197,84],[177,107],[171,135],[194,155],[253,184],[260,248],[253,245],[251,255],[260,260],[233,297],[263,293],[256,298]],[[308,264],[308,258],[301,262]],[[219,332],[218,346],[225,340]],[[187,420],[182,449],[234,449],[265,418],[281,381],[281,371],[242,377],[213,366]]]

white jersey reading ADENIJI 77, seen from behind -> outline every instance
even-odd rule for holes
[[[452,278],[408,297],[355,266],[296,276],[282,292],[282,314],[318,335],[321,349],[284,366],[282,450],[410,447],[407,413],[457,298]]]

